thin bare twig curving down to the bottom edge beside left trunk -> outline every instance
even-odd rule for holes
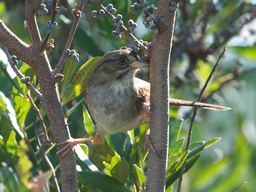
[[[40,138],[38,136],[38,132],[37,132],[37,128],[36,128],[36,116],[37,116],[37,114],[35,114],[33,123],[34,123],[34,132],[35,132],[35,135],[36,135],[36,140],[37,140],[37,143],[38,143],[39,151],[40,151],[40,154],[41,154],[45,164],[48,166],[48,168],[50,170],[52,170],[52,182],[54,184],[55,191],[60,192],[60,186],[59,186],[57,178],[56,178],[56,173],[55,173],[54,167],[52,166],[52,163],[48,159],[47,155],[44,153]]]

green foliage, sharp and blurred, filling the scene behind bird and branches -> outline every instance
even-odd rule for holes
[[[142,28],[142,12],[136,15],[130,12],[129,7],[134,2],[106,0],[104,4],[112,3],[118,14],[122,14],[124,24],[127,24],[129,19],[136,21],[138,28],[135,30],[135,36],[150,42],[153,31]],[[148,4],[152,3],[156,4],[156,1],[148,1]],[[72,1],[66,0],[60,4],[64,4],[69,10],[74,6]],[[248,24],[246,25],[254,22],[253,9],[255,10],[255,5],[250,1],[180,2],[171,55],[170,95],[180,99],[196,100],[198,90],[204,84],[212,63],[218,57],[218,48],[227,44],[226,58],[222,60],[210,82],[204,100],[219,102],[232,107],[233,110],[226,113],[200,111],[193,130],[193,143],[189,151],[185,151],[187,119],[191,110],[183,107],[170,109],[166,191],[176,189],[176,180],[186,158],[184,188],[187,191],[255,190],[256,39],[252,29],[248,29]],[[73,138],[94,136],[94,121],[86,105],[80,102],[83,101],[84,96],[81,93],[84,91],[84,83],[90,70],[104,53],[133,44],[126,35],[122,35],[120,40],[112,37],[111,31],[114,27],[111,19],[104,16],[100,19],[93,18],[90,13],[92,10],[98,9],[94,5],[85,8],[82,22],[74,36],[73,46],[79,52],[81,62],[76,64],[70,58],[66,60],[62,71],[65,78],[58,86]],[[5,20],[6,25],[18,37],[30,44],[29,35],[23,24],[24,4],[0,2],[0,18]],[[41,34],[46,33],[44,24],[49,20],[49,14],[37,17]],[[52,66],[56,65],[56,58],[61,56],[63,39],[71,28],[73,18],[71,14],[64,14],[56,16],[56,20],[61,27],[56,28],[51,34],[51,38],[56,42],[55,49],[47,53]],[[10,24],[11,22],[14,24]],[[245,30],[251,32],[250,40],[248,35],[243,35]],[[22,74],[30,76],[32,84],[39,88],[34,71],[20,60],[17,66]],[[138,76],[148,80],[148,71],[143,70]],[[246,87],[244,82],[247,84]],[[43,172],[48,170],[35,142],[34,110],[26,98],[29,93],[26,86],[21,84],[19,78],[12,72],[4,53],[0,50],[0,191],[26,191],[33,178],[39,174],[38,165]],[[32,97],[38,105],[39,102],[33,94]],[[51,132],[42,107],[40,111],[48,131]],[[42,127],[38,119],[36,126],[42,136]],[[106,136],[102,142],[87,142],[82,146],[76,146],[80,190],[144,191],[148,152],[143,144],[147,128],[143,125],[126,134]],[[36,152],[37,162],[32,157],[31,148],[28,147],[25,131],[32,150]],[[219,137],[222,137],[222,140],[215,144]],[[204,150],[212,144],[215,144],[214,148]],[[53,166],[58,169],[58,158],[55,153],[54,147],[46,151]],[[56,173],[59,178],[59,170]],[[244,181],[248,181],[248,184],[242,186]],[[48,184],[50,189],[54,190],[52,182],[48,181]]]

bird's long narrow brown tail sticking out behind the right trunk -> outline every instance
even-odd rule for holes
[[[224,107],[224,106],[219,106],[219,105],[194,102],[194,101],[186,101],[186,100],[180,100],[180,99],[174,99],[174,98],[170,98],[169,102],[170,102],[170,105],[174,105],[174,106],[202,107],[205,109],[220,110],[220,111],[226,111],[226,110],[231,109],[229,107]]]

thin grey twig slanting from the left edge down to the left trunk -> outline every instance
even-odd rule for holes
[[[14,72],[17,74],[19,78],[24,78],[24,75],[16,67],[17,61],[12,61],[10,53],[8,52],[8,49],[3,45],[2,45],[2,49],[7,56],[8,62],[10,63],[12,70],[14,70]],[[35,94],[35,96],[42,102],[43,100],[42,94],[30,82],[27,82],[25,84]]]

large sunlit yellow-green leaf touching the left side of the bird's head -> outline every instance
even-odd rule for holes
[[[80,67],[80,69],[76,72],[71,82],[68,93],[66,94],[67,96],[63,99],[63,102],[62,102],[63,105],[69,102],[70,100],[76,98],[84,91],[86,80],[100,58],[101,57],[91,58],[85,64],[83,64]]]

